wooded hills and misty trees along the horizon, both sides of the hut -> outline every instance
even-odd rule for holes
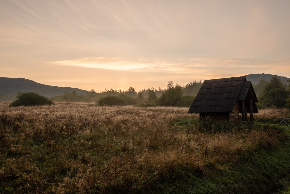
[[[289,79],[271,74],[249,74],[258,97],[258,108],[276,106],[290,107]],[[259,80],[259,81],[258,81]],[[13,101],[18,92],[35,92],[52,101],[59,102],[94,102],[97,105],[139,105],[139,106],[190,106],[197,95],[201,81],[193,81],[185,86],[168,81],[165,89],[147,88],[136,91],[105,89],[102,92],[81,90],[78,88],[47,86],[24,78],[0,77],[0,101]],[[278,102],[279,101],[279,102]]]

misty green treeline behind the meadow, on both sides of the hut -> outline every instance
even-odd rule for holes
[[[93,89],[86,95],[78,94],[75,90],[72,93],[65,92],[63,95],[52,97],[52,101],[66,102],[95,102],[103,105],[138,105],[138,106],[183,106],[189,107],[200,87],[201,81],[191,82],[186,86],[169,81],[167,88],[143,89],[139,92],[133,87],[128,90],[105,89],[102,92],[95,92]],[[253,84],[258,98],[258,108],[287,107],[290,109],[290,79],[283,83],[275,74],[269,81],[261,79],[259,83]]]

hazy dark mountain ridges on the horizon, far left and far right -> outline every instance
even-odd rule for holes
[[[271,74],[248,74],[247,81],[257,84],[261,79],[269,81]],[[278,76],[283,83],[287,83],[289,78]],[[134,87],[134,86],[133,86]],[[0,101],[13,101],[18,92],[36,92],[46,97],[63,95],[64,92],[72,93],[75,90],[78,94],[86,95],[88,91],[79,88],[49,86],[25,78],[0,77]],[[137,91],[138,92],[138,91]]]

